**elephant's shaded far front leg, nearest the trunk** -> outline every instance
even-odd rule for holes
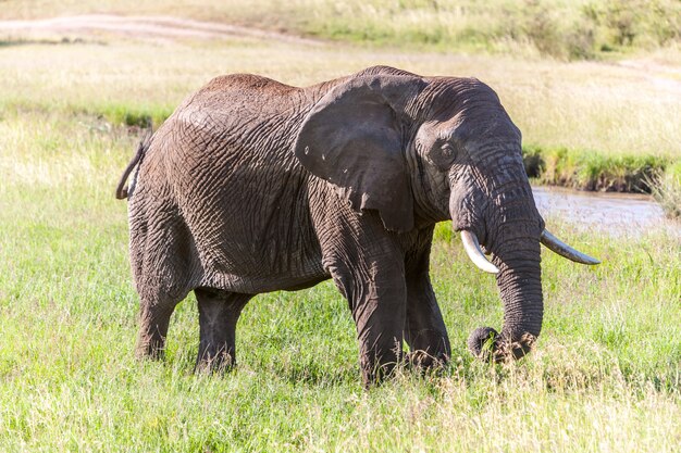
[[[428,268],[407,275],[407,294],[405,341],[411,350],[409,361],[425,368],[447,363],[451,356],[449,337]]]

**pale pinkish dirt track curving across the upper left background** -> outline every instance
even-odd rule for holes
[[[0,38],[35,39],[54,37],[54,35],[62,38],[91,38],[102,33],[136,39],[224,39],[249,37],[306,46],[319,46],[322,43],[322,41],[275,32],[169,16],[89,14],[40,21],[0,21]]]

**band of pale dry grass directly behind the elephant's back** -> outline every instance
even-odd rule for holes
[[[527,143],[679,159],[681,83],[664,70],[499,56],[394,53],[228,40],[21,45],[1,49],[5,108],[157,118],[211,77],[247,72],[307,85],[374,64],[475,76],[497,90]],[[667,66],[664,66],[667,67]]]

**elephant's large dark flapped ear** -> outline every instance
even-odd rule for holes
[[[413,228],[403,117],[423,84],[403,75],[351,78],[312,108],[294,144],[310,173],[333,184],[352,209],[379,211],[393,231]]]

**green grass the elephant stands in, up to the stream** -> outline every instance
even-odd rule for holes
[[[681,248],[654,232],[555,232],[599,256],[543,256],[533,354],[479,363],[469,332],[499,326],[494,279],[437,228],[432,278],[453,342],[441,375],[361,389],[347,303],[331,282],[256,298],[238,368],[191,373],[193,297],[168,358],[133,357],[137,297],[113,188],[137,137],[83,115],[0,121],[0,445],[3,451],[671,452],[681,432]]]

